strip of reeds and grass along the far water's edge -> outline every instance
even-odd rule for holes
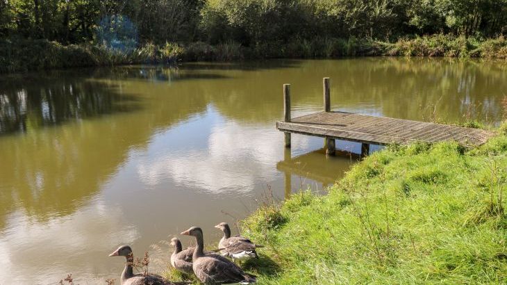
[[[507,58],[507,40],[432,35],[397,42],[370,39],[314,38],[266,42],[244,47],[237,42],[210,45],[144,44],[136,49],[109,49],[94,44],[64,46],[47,40],[0,40],[0,72],[68,67],[175,63],[178,60],[231,61],[263,58],[339,58],[342,56],[449,56]]]

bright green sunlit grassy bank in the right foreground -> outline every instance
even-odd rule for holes
[[[389,147],[329,195],[293,195],[242,222],[260,284],[505,284],[507,124],[477,149]]]

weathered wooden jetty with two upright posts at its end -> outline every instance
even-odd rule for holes
[[[482,129],[448,124],[418,122],[376,117],[356,113],[331,111],[329,78],[324,78],[324,111],[301,117],[290,115],[290,84],[283,85],[284,120],[276,129],[285,133],[285,147],[290,147],[290,134],[324,138],[326,154],[335,154],[335,140],[361,142],[361,155],[369,154],[369,145],[406,144],[410,142],[440,142],[454,140],[462,145],[482,145],[494,133]]]

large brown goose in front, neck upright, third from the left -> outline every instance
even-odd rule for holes
[[[204,284],[251,284],[256,282],[253,275],[249,275],[241,268],[217,254],[204,254],[203,233],[200,227],[191,227],[181,234],[194,236],[197,247],[192,255],[192,270]]]

